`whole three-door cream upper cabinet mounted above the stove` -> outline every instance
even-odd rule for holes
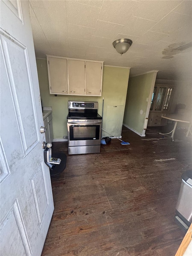
[[[50,94],[101,96],[103,61],[47,55]]]

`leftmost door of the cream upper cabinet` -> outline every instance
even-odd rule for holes
[[[49,86],[52,93],[67,94],[67,59],[48,59]]]

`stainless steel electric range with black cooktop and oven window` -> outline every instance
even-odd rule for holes
[[[99,153],[102,117],[98,102],[68,101],[68,154]]]

